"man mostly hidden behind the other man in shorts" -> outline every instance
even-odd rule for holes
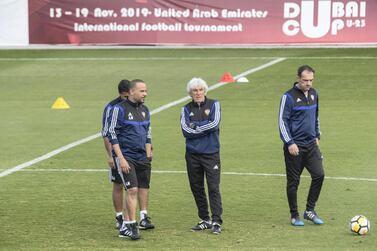
[[[123,202],[123,183],[122,179],[118,173],[118,170],[115,168],[114,165],[114,159],[112,154],[112,147],[109,139],[107,138],[107,134],[109,132],[109,123],[108,119],[110,116],[111,109],[121,103],[123,100],[125,100],[128,96],[128,89],[129,89],[130,81],[127,79],[123,79],[118,84],[118,93],[119,97],[116,99],[110,101],[102,115],[102,138],[103,143],[105,145],[105,149],[107,152],[107,163],[109,165],[109,177],[111,182],[113,182],[113,192],[112,192],[112,199],[113,199],[113,205],[115,209],[115,227],[117,229],[120,229],[123,223],[123,211],[126,210],[125,201]],[[127,218],[127,215],[124,215],[125,219]]]

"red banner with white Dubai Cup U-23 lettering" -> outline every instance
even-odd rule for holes
[[[29,0],[30,44],[377,43],[377,1]]]

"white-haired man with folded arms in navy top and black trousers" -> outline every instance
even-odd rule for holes
[[[187,84],[192,101],[182,108],[181,128],[186,138],[186,164],[192,194],[194,195],[200,222],[192,231],[212,229],[221,233],[222,205],[220,195],[220,103],[207,98],[208,86],[200,78],[193,78]],[[204,175],[207,179],[209,204],[204,189]]]

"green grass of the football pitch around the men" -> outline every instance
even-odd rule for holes
[[[360,56],[372,58],[350,58]],[[247,76],[249,84],[228,84],[208,93],[222,105],[223,172],[284,173],[279,100],[305,63],[317,72],[326,175],[376,179],[376,49],[0,51],[0,169],[97,133],[103,107],[116,96],[121,78],[144,79],[147,105],[153,110],[185,96],[193,76],[214,84],[225,71],[237,75],[275,57],[287,59]],[[50,109],[60,96],[69,110]],[[179,113],[177,106],[152,117],[153,170],[185,170]],[[224,174],[223,233],[213,236],[188,231],[197,213],[186,174],[153,173],[149,211],[157,228],[131,242],[118,238],[113,229],[111,185],[98,138],[0,178],[0,250],[374,250],[375,183],[326,179],[317,208],[326,224],[294,228],[284,177]],[[302,178],[301,210],[309,184],[309,178]],[[348,220],[356,214],[371,220],[367,236],[349,232]]]

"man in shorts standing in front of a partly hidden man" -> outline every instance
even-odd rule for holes
[[[140,79],[132,80],[126,100],[117,104],[109,117],[108,137],[115,155],[124,187],[127,190],[126,204],[129,221],[124,221],[119,231],[120,237],[140,238],[136,223],[136,209],[140,203],[140,229],[151,229],[147,215],[148,192],[151,176],[151,131],[150,113],[143,104],[147,96],[147,86]]]

